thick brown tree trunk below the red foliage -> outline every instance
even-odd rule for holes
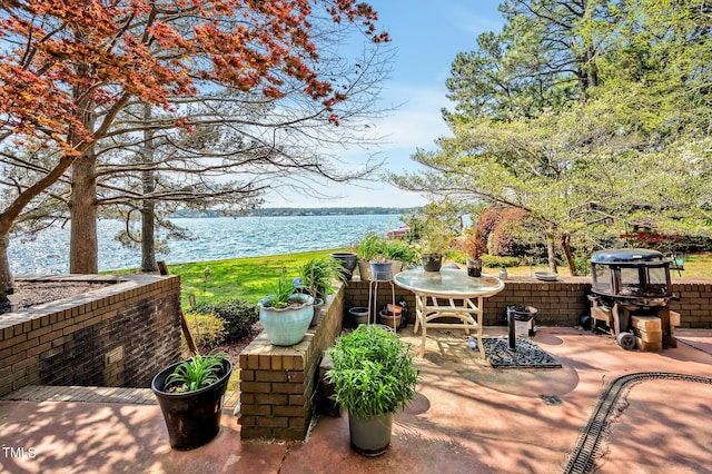
[[[71,168],[71,199],[69,215],[69,273],[99,271],[97,241],[97,159],[93,147],[75,160]]]

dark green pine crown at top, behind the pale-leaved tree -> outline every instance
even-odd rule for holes
[[[606,2],[507,0],[501,33],[484,32],[477,48],[461,52],[446,81],[455,101],[447,120],[534,118],[582,100],[599,85],[596,57],[614,24]],[[582,24],[586,22],[587,28]],[[587,34],[589,22],[596,34]]]

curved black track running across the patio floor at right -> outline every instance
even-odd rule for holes
[[[623,375],[616,378],[601,394],[601,402],[591,415],[589,423],[581,431],[576,447],[568,457],[568,464],[564,468],[564,474],[585,474],[591,472],[593,460],[601,445],[603,433],[609,425],[611,415],[619,403],[621,394],[629,384],[652,381],[656,378],[699,382],[701,384],[712,384],[712,378],[698,377],[694,375],[673,374],[670,372],[641,372],[637,374]]]

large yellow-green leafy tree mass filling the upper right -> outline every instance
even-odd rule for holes
[[[712,43],[702,2],[522,0],[503,10],[510,23],[498,52],[475,51],[491,59],[471,70],[456,59],[464,73],[448,86],[462,102],[446,115],[454,137],[413,156],[425,171],[393,181],[522,209],[554,271],[557,246],[575,274],[572,239],[600,245],[626,225],[709,234],[710,122],[700,106],[710,99],[703,58]],[[542,41],[562,47],[545,61],[525,60],[542,58]],[[500,75],[513,70],[522,77]],[[498,89],[466,91],[482,71]],[[576,95],[557,93],[572,80]],[[522,83],[546,87],[534,95]],[[688,105],[693,112],[683,111]]]

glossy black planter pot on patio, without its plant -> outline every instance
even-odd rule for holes
[[[151,381],[151,389],[166,419],[170,447],[187,451],[209,443],[220,432],[222,397],[233,373],[233,363],[222,362],[224,375],[218,382],[199,391],[171,394],[164,392],[166,377],[180,363],[158,373]]]

